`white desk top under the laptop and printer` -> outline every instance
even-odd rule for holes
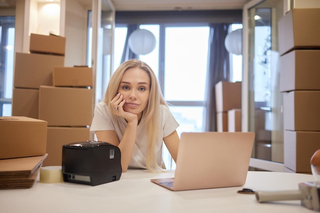
[[[173,175],[129,170],[120,180],[95,187],[36,181],[31,189],[0,190],[0,212],[315,212],[300,201],[258,203],[255,195],[237,193],[242,188],[298,190],[299,182],[314,181],[312,175],[249,171],[243,187],[180,192],[150,182]]]

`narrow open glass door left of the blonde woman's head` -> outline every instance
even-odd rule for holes
[[[104,95],[112,71],[115,9],[110,1],[93,1],[88,24],[88,64],[95,73],[95,103]],[[89,61],[91,60],[91,61]]]

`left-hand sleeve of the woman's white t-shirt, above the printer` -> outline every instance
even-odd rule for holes
[[[90,127],[90,131],[93,133],[100,130],[115,130],[108,106],[104,102],[96,105],[94,118]]]

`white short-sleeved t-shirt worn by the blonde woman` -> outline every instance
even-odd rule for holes
[[[146,156],[148,153],[148,137],[146,134],[146,128],[144,125],[144,119],[142,118],[138,124],[136,132],[135,145],[129,163],[129,168],[143,168],[146,169]],[[98,130],[115,130],[119,141],[122,140],[127,122],[124,118],[115,120],[105,102],[100,102],[96,105],[94,118],[90,131],[95,133]],[[163,138],[169,136],[177,127],[178,122],[171,114],[169,108],[166,105],[160,105],[159,116],[159,128],[158,137],[155,143],[155,157],[159,166],[162,163],[162,144]],[[108,141],[105,141],[108,142]]]

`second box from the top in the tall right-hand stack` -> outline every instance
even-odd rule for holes
[[[280,57],[280,91],[320,90],[320,50],[293,50]]]

